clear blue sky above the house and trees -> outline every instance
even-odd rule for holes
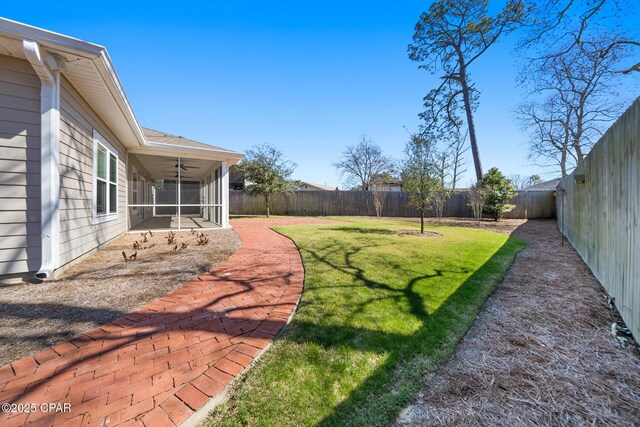
[[[237,151],[269,142],[297,163],[295,178],[331,186],[340,184],[332,163],[362,133],[402,157],[436,84],[406,53],[429,1],[176,4],[8,2],[1,13],[106,46],[143,126]],[[471,69],[481,159],[485,170],[551,178],[527,160],[513,118],[523,95],[514,42]],[[463,184],[470,158],[467,168]]]

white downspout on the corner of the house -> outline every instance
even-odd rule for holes
[[[60,265],[60,72],[65,61],[40,50],[33,40],[22,47],[40,78],[40,226],[41,266],[35,277],[47,279]]]

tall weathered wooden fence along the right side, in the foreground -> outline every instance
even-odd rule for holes
[[[560,187],[560,231],[640,339],[640,98]]]

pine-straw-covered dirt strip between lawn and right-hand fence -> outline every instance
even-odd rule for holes
[[[446,222],[529,246],[395,425],[640,425],[640,351],[611,335],[617,312],[556,222]]]

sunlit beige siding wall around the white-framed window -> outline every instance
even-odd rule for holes
[[[60,263],[64,265],[126,231],[126,151],[82,96],[60,84]],[[93,130],[118,150],[118,218],[94,224]]]

